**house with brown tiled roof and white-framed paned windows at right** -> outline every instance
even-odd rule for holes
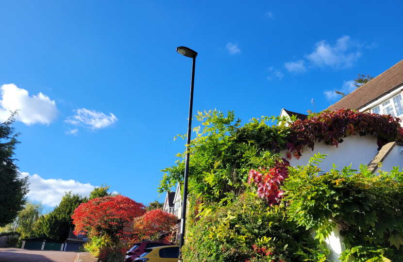
[[[328,110],[342,108],[403,119],[403,60],[341,98]]]

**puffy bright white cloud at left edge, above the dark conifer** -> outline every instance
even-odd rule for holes
[[[26,125],[36,123],[47,124],[57,118],[58,109],[54,100],[42,93],[29,96],[27,90],[18,88],[15,84],[3,84],[0,87],[0,120],[4,121],[10,116],[10,110],[19,109],[17,121]]]

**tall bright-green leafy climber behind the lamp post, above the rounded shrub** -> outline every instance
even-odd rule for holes
[[[188,190],[190,194],[201,194],[207,202],[243,192],[249,170],[274,164],[280,155],[273,152],[285,149],[285,137],[290,132],[284,125],[288,121],[285,117],[253,118],[242,126],[239,118],[235,120],[234,112],[224,116],[210,110],[199,112],[197,119],[203,129],[195,128],[197,136],[190,143]],[[270,126],[270,122],[274,125]],[[280,122],[283,124],[278,126]],[[169,192],[183,179],[186,152],[176,156],[179,160],[175,165],[162,170],[160,193]]]

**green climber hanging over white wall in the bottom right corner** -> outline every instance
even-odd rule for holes
[[[323,158],[316,155],[316,157]],[[371,174],[336,167],[320,174],[317,166],[290,168],[282,189],[290,219],[315,229],[323,241],[338,226],[346,250],[342,262],[403,261],[403,172]],[[402,249],[400,249],[402,248]]]

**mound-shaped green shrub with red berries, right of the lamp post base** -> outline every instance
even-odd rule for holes
[[[287,220],[284,207],[270,207],[252,194],[188,226],[182,248],[185,262],[323,262],[326,254],[305,227]]]

